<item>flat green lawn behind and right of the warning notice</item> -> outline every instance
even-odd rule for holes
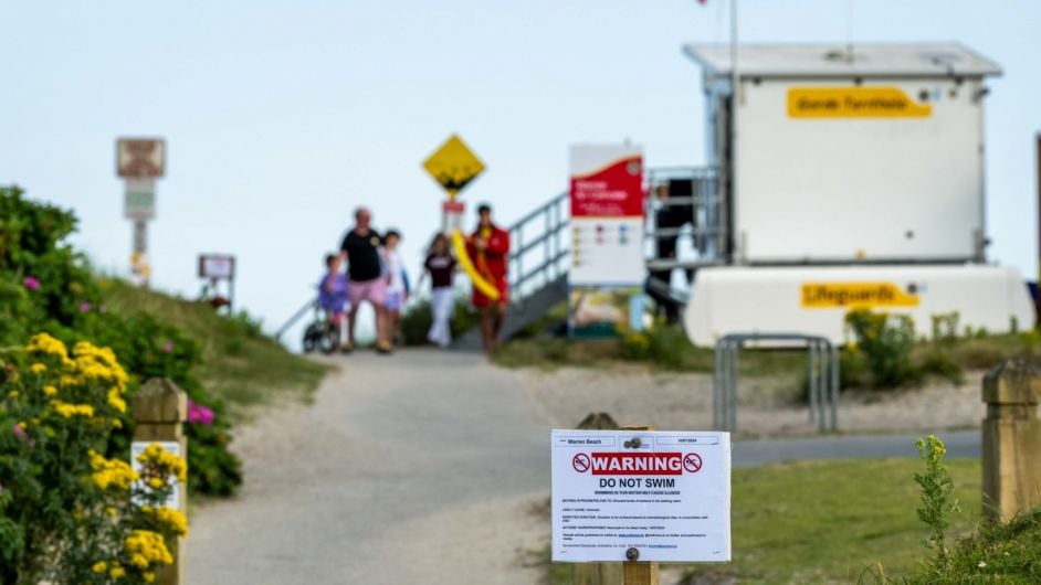
[[[980,462],[947,461],[961,512],[953,536],[968,535],[980,518]],[[916,458],[801,461],[733,475],[734,561],[685,567],[691,583],[874,583],[907,574],[928,556],[927,526],[918,521]],[[546,559],[548,560],[548,549]],[[551,585],[571,585],[571,565],[549,565]]]

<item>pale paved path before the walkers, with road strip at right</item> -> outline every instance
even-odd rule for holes
[[[477,354],[358,353],[312,406],[241,430],[240,498],[192,514],[192,585],[538,582],[549,427],[515,376]],[[978,432],[942,434],[953,456]],[[736,466],[915,456],[914,435],[740,442]]]

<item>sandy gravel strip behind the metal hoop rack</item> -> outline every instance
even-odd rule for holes
[[[606,412],[620,425],[654,425],[662,429],[712,427],[712,375],[650,373],[624,364],[612,371],[564,368],[513,371],[545,416],[569,428],[590,412]],[[933,384],[898,393],[843,394],[839,430],[874,433],[950,429],[979,426],[986,414],[980,401],[982,373],[970,373],[961,386]],[[778,396],[770,380],[739,381],[737,423],[748,438],[763,435],[809,435],[816,427],[808,407]]]

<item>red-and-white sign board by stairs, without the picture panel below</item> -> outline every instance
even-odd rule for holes
[[[640,147],[571,147],[571,286],[643,285],[643,199]]]

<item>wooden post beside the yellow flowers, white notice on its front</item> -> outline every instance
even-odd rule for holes
[[[136,427],[135,442],[174,442],[180,445],[180,456],[188,458],[188,443],[183,433],[183,422],[188,418],[188,395],[166,379],[153,377],[134,394],[130,401]],[[187,486],[180,486],[179,509],[188,510]],[[157,585],[180,585],[183,579],[183,538],[169,543],[174,564],[156,573]]]

